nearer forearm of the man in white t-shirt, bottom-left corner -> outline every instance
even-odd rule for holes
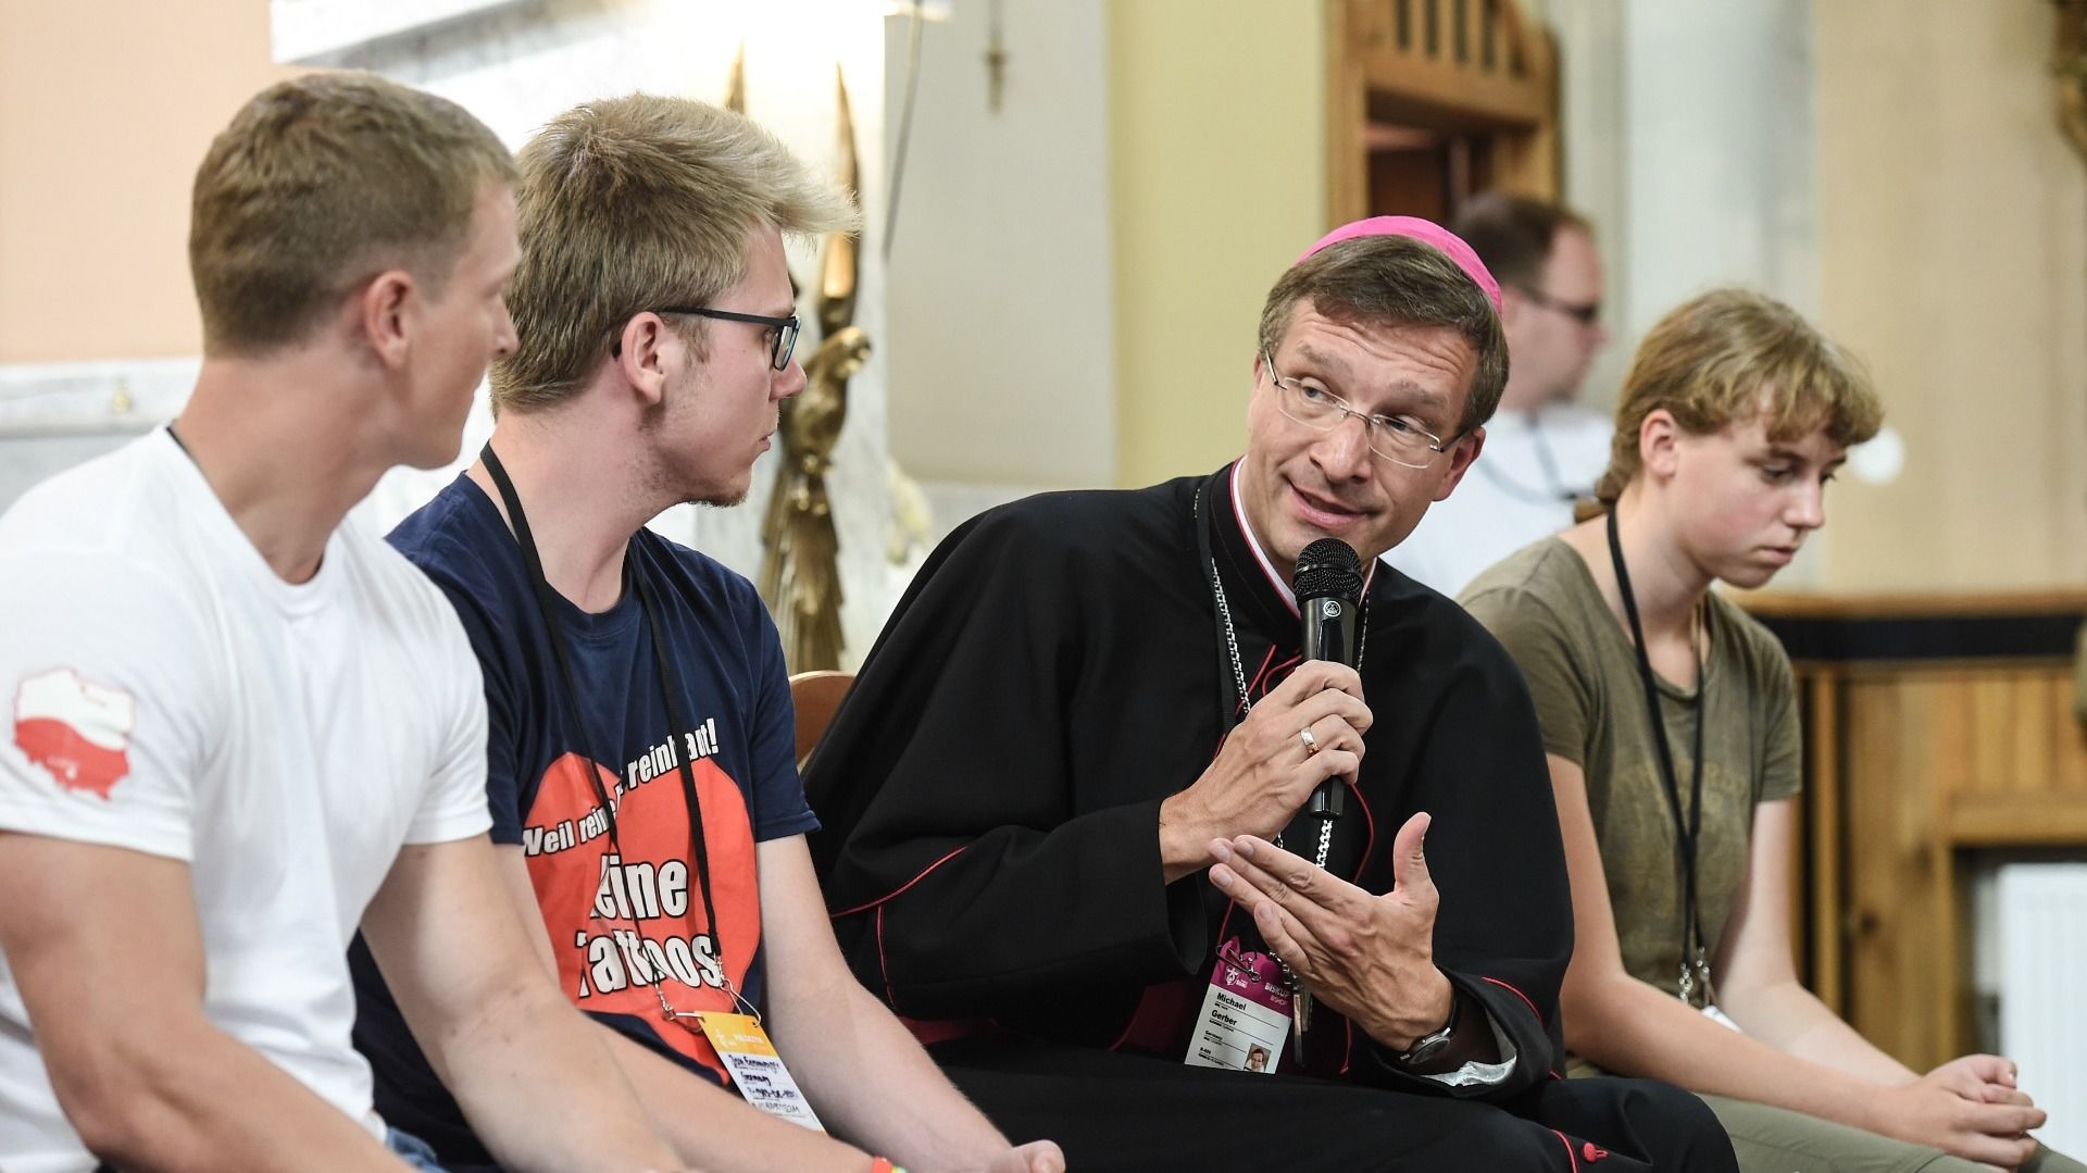
[[[58,1100],[86,1146],[121,1169],[371,1169],[397,1156],[296,1077],[198,1023],[159,1035],[148,1054],[111,1056],[121,1071],[69,1079]]]

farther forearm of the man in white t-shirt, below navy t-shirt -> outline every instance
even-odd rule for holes
[[[674,1169],[599,1035],[522,971],[422,1046],[503,1169]]]

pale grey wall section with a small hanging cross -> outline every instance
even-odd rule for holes
[[[977,2],[920,38],[885,284],[889,338],[877,340],[891,455],[918,480],[1117,480],[1106,10],[1108,0],[1050,0],[1010,13],[998,106],[981,67],[991,21]],[[885,52],[895,119],[908,58],[899,21]],[[937,511],[947,526],[968,516],[956,503]]]

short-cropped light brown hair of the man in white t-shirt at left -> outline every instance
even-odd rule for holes
[[[188,269],[207,355],[305,338],[349,290],[407,269],[442,294],[513,157],[463,106],[374,73],[309,73],[248,100],[196,167]]]

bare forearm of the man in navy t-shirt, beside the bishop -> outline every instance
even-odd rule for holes
[[[776,1016],[778,1048],[835,1131],[914,1173],[985,1169],[1008,1142],[866,989]]]

